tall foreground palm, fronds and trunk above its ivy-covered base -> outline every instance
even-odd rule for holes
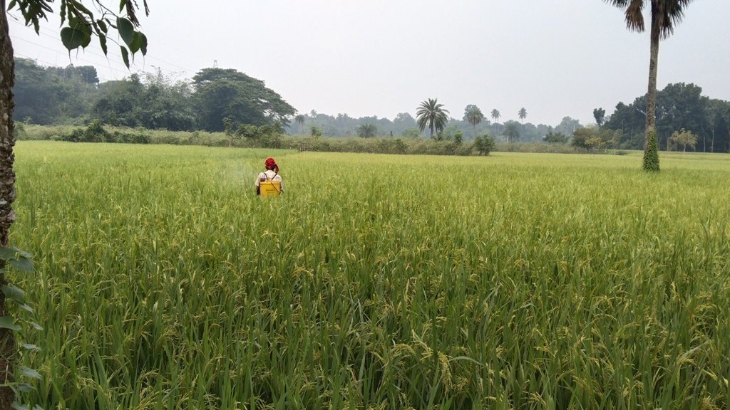
[[[644,134],[644,151],[649,144],[649,134],[656,125],[656,65],[659,54],[659,40],[666,39],[675,31],[675,24],[684,18],[684,9],[692,0],[604,0],[607,3],[625,9],[626,28],[630,31],[645,31],[644,7],[651,7],[651,53],[649,59],[649,90],[646,95],[646,129]]]

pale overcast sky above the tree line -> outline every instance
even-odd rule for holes
[[[140,1],[141,2],[141,1]],[[218,61],[266,85],[299,112],[393,119],[438,98],[455,117],[467,104],[500,121],[593,122],[646,92],[649,37],[626,30],[601,0],[148,0],[147,57],[132,72],[183,79]],[[57,8],[58,4],[54,4]],[[15,13],[17,15],[17,12]],[[658,88],[694,82],[730,100],[730,1],[698,0],[659,49]],[[58,21],[37,36],[11,21],[15,55],[44,65],[93,64],[102,81],[129,74],[98,42],[66,52]]]

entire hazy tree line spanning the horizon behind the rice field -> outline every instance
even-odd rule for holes
[[[252,138],[250,127],[264,125],[302,136],[431,137],[429,121],[419,123],[407,112],[399,113],[393,120],[376,116],[355,118],[344,113],[326,115],[315,110],[299,114],[274,90],[266,88],[264,81],[234,69],[202,69],[192,80],[174,81],[158,71],[100,83],[93,66],[44,67],[25,58],[16,58],[15,64],[14,117],[24,123],[87,125],[98,120],[102,125],[128,128],[219,132],[225,131],[223,119],[228,118],[233,128],[241,130],[231,134],[236,138]],[[437,141],[475,141],[475,136],[489,135],[496,142],[571,144],[591,149],[585,141],[599,138],[604,147],[642,150],[645,99],[639,96],[628,105],[620,102],[608,116],[605,109],[594,109],[596,127],[588,129],[572,117],[564,117],[554,127],[525,123],[525,108],[512,115],[520,121],[502,123],[499,119],[503,115],[498,109],[484,111],[493,120],[490,121],[473,104],[464,108],[463,115],[452,114],[453,117],[435,98],[414,108],[425,107],[428,112],[438,105],[444,111],[438,118],[433,117],[432,138]],[[694,147],[683,149],[730,152],[730,102],[702,96],[702,88],[694,84],[667,85],[656,96],[659,148],[675,149],[672,135],[682,129],[698,139]],[[612,131],[621,131],[618,145],[614,144],[617,137]],[[263,131],[260,134],[268,135]]]

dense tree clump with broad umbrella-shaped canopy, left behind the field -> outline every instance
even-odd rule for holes
[[[202,69],[191,81],[131,74],[99,83],[93,66],[43,67],[15,58],[15,118],[25,123],[91,123],[223,131],[223,118],[242,125],[288,125],[296,113],[281,96],[234,69]]]

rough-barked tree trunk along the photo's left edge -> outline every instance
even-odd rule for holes
[[[12,202],[15,201],[15,171],[12,163],[15,144],[12,131],[12,85],[15,82],[15,61],[5,15],[5,0],[0,0],[0,246],[7,247],[8,231],[15,221]],[[0,261],[0,268],[4,262]],[[0,273],[0,286],[6,285],[5,274]],[[0,317],[7,314],[5,294],[0,292]],[[12,382],[15,368],[15,336],[12,330],[0,328],[0,383]],[[9,387],[0,387],[0,410],[11,409],[15,394]]]

